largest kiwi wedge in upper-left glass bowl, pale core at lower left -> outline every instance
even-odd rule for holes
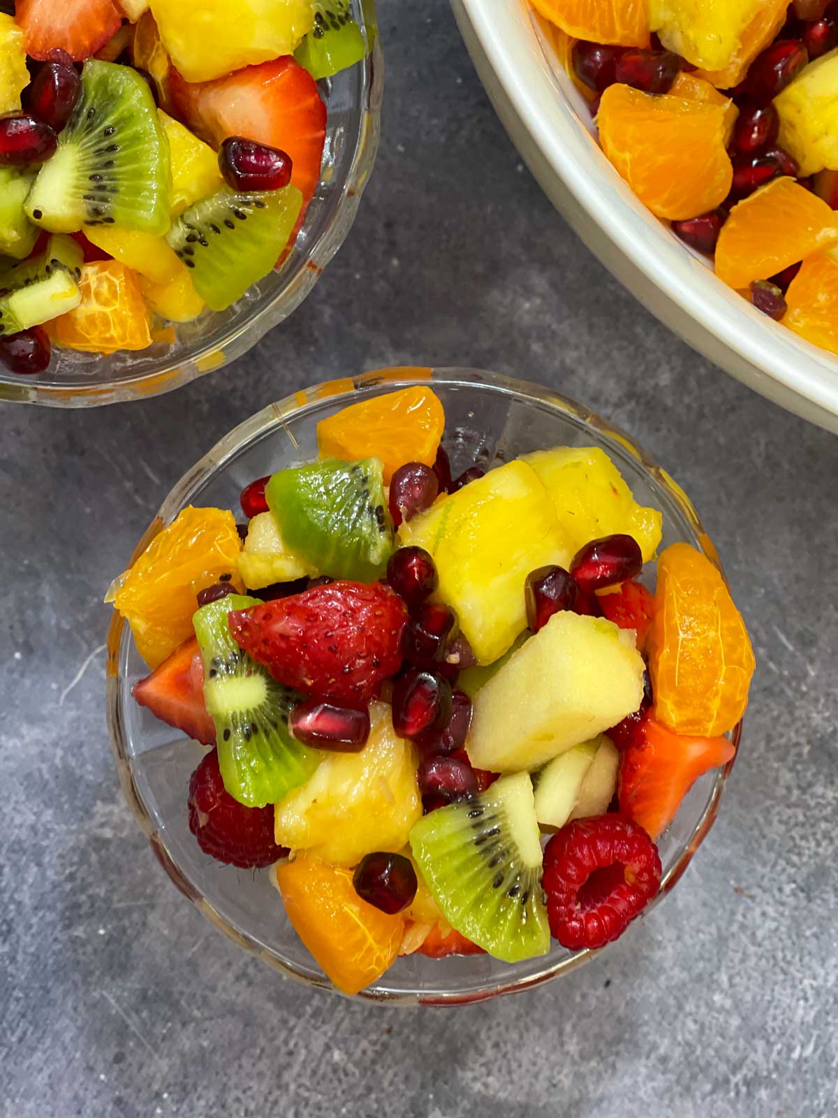
[[[151,89],[130,66],[91,59],[58,150],[26,203],[53,233],[113,225],[161,236],[170,225],[169,140]]]

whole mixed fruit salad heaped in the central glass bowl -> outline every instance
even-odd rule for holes
[[[658,553],[601,448],[453,477],[445,421],[420,385],[362,398],[241,513],[183,509],[106,598],[151,670],[134,700],[209,747],[200,849],[268,873],[350,994],[400,955],[617,939],[754,667],[720,570]]]

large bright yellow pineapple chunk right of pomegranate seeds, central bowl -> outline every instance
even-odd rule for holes
[[[457,610],[479,664],[503,656],[526,627],[530,571],[566,567],[572,556],[552,501],[524,462],[492,470],[437,501],[399,534],[403,544],[434,557],[439,597]]]

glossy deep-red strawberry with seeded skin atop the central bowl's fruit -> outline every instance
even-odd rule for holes
[[[230,633],[275,680],[360,705],[401,667],[408,613],[381,582],[336,581],[229,614]]]

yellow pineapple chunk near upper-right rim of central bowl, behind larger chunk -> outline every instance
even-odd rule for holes
[[[644,562],[655,555],[664,522],[639,505],[619,470],[598,446],[559,446],[525,454],[553,499],[573,555],[591,540],[625,532],[640,544]]]

